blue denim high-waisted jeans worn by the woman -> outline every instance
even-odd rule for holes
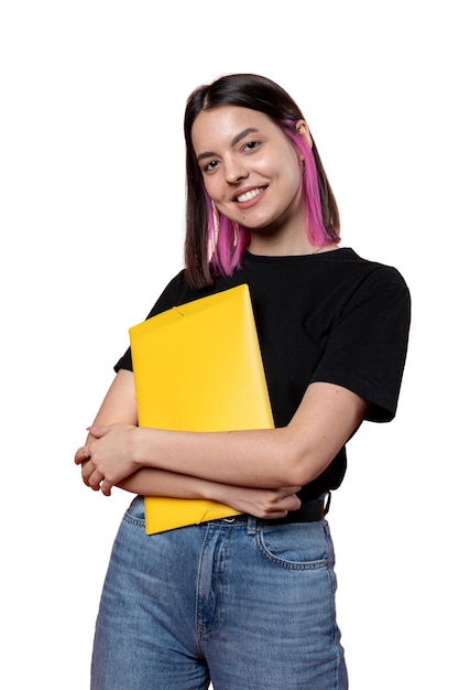
[[[253,517],[160,535],[127,510],[100,602],[92,690],[346,690],[328,522]]]

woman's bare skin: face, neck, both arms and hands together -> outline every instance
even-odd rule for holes
[[[312,145],[306,122],[296,127]],[[200,112],[192,138],[210,198],[250,229],[252,254],[317,250],[305,233],[302,160],[276,125],[261,112],[225,106]],[[75,462],[85,484],[106,496],[118,486],[144,495],[210,498],[256,517],[283,517],[298,509],[296,492],[327,467],[367,408],[352,391],[316,382],[284,428],[215,433],[145,429],[136,425],[133,375],[121,370]]]

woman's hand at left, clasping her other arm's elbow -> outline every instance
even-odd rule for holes
[[[86,486],[110,496],[113,486],[139,468],[132,460],[135,429],[131,424],[89,428],[89,441],[75,454]]]

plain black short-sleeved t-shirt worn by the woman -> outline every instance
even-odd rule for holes
[[[365,398],[368,420],[393,419],[411,317],[409,292],[396,269],[348,248],[293,257],[245,252],[240,269],[211,288],[192,289],[181,271],[147,317],[241,283],[250,289],[276,427],[288,424],[314,381]],[[129,349],[114,369],[132,370]],[[337,488],[345,472],[343,448],[300,497]]]

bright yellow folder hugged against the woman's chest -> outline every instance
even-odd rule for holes
[[[247,284],[174,306],[132,326],[129,335],[139,425],[273,428]],[[237,514],[211,500],[145,496],[147,533]]]

